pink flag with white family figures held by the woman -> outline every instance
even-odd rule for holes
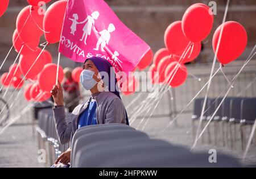
[[[92,56],[103,57],[115,72],[128,73],[149,50],[105,1],[68,1],[59,45],[64,56],[81,63]]]

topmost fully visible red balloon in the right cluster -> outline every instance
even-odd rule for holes
[[[209,7],[203,5],[188,7],[182,18],[183,33],[192,42],[207,38],[212,26],[213,14],[209,13]]]

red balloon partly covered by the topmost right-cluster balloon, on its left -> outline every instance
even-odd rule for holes
[[[183,34],[181,21],[171,23],[167,27],[164,34],[164,43],[171,54],[177,54],[187,47],[189,40]]]

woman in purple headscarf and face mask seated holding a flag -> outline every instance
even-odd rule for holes
[[[101,57],[86,59],[80,82],[86,90],[90,90],[92,97],[88,102],[78,105],[71,114],[71,119],[66,119],[63,90],[61,85],[54,85],[51,94],[57,106],[53,108],[57,134],[61,144],[72,140],[76,130],[92,124],[123,123],[129,125],[125,106],[120,98],[119,91],[110,86],[117,84],[117,79],[111,79],[113,68],[108,61]],[[101,73],[108,74],[108,79],[103,79]],[[100,74],[99,74],[100,73]],[[104,82],[103,82],[104,80]],[[106,84],[108,83],[108,84]],[[115,85],[114,84],[114,85]],[[106,91],[106,89],[108,90]],[[104,89],[104,91],[102,91]],[[66,121],[69,121],[68,123]],[[68,164],[71,159],[71,148],[62,153],[55,164]]]

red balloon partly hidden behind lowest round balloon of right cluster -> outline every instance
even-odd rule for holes
[[[174,61],[176,61],[176,59],[170,55],[163,57],[163,59],[159,62],[158,66],[156,67],[157,71],[159,72],[159,82],[164,82],[164,72],[166,71],[167,66]]]

